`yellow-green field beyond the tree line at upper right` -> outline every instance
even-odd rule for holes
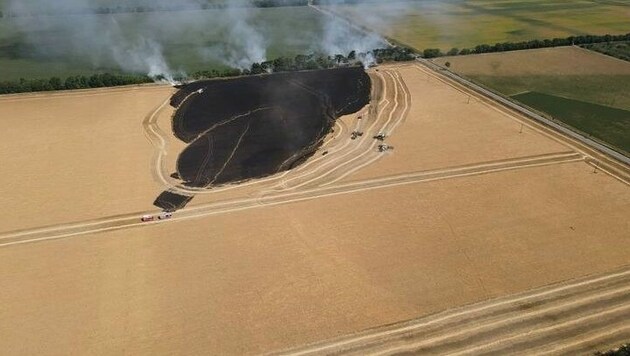
[[[628,1],[424,0],[333,8],[417,49],[630,31]]]

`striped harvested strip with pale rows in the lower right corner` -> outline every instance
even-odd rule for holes
[[[566,355],[630,337],[630,269],[283,351],[283,355]]]

